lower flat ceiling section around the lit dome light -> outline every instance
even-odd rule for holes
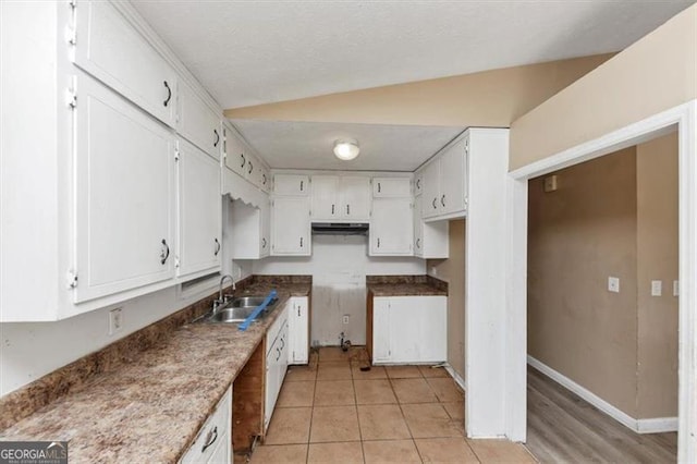
[[[463,127],[232,121],[271,168],[414,171]],[[355,138],[360,155],[340,161],[334,141]]]

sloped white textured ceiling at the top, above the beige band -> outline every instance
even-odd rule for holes
[[[695,0],[133,0],[223,108],[619,51]]]

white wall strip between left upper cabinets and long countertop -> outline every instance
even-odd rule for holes
[[[0,323],[0,396],[124,338],[215,290],[182,297],[175,288],[57,322]],[[29,303],[29,302],[27,302]],[[109,335],[109,310],[122,308],[123,326]]]

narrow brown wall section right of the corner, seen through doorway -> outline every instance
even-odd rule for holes
[[[637,147],[638,417],[677,415],[677,133]],[[661,280],[661,296],[651,281]]]

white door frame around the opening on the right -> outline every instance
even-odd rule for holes
[[[526,440],[528,180],[677,129],[680,212],[677,462],[697,462],[697,100],[653,114],[509,173],[506,436]]]

